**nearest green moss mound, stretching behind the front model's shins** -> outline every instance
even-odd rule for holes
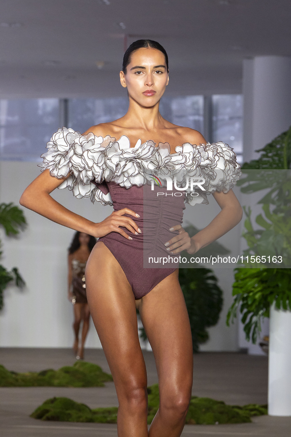
[[[158,384],[148,387],[150,424],[159,408]],[[31,417],[41,420],[65,422],[98,422],[116,423],[117,407],[91,409],[67,398],[52,398],[36,408]],[[230,406],[222,401],[210,398],[192,397],[187,414],[187,424],[214,425],[220,423],[251,422],[252,416],[267,414],[267,406],[255,404],[246,406]]]

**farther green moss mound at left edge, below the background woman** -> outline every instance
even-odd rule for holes
[[[112,381],[96,364],[76,361],[73,366],[59,370],[47,369],[42,372],[9,372],[0,365],[0,387],[103,387],[104,382]]]

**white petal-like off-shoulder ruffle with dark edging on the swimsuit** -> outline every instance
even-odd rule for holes
[[[68,187],[74,196],[91,197],[102,205],[112,205],[110,193],[104,189],[104,181],[115,182],[122,187],[142,186],[159,178],[176,176],[177,185],[185,186],[186,176],[204,178],[205,190],[190,190],[186,202],[208,203],[207,194],[214,191],[227,192],[240,177],[240,166],[236,155],[223,142],[200,144],[184,143],[170,154],[170,146],[153,141],[130,148],[129,138],[123,135],[118,141],[107,135],[93,133],[81,135],[71,128],[59,128],[47,143],[48,151],[43,154],[42,171],[48,169],[56,178],[70,176],[59,188]]]

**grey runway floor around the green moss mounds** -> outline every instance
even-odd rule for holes
[[[158,382],[152,352],[144,351],[148,385]],[[109,368],[100,349],[87,349],[85,361]],[[0,364],[14,372],[59,369],[72,365],[71,349],[0,348]],[[194,355],[193,395],[211,397],[231,405],[267,403],[267,357],[240,353]],[[1,437],[117,437],[116,425],[42,422],[29,417],[46,399],[65,396],[92,408],[117,406],[113,382],[105,387],[0,387]],[[253,423],[236,425],[187,425],[182,436],[262,436],[289,437],[291,417],[260,416]]]

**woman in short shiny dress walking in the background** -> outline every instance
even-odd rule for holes
[[[90,310],[86,296],[85,267],[96,241],[92,235],[77,231],[68,249],[68,300],[74,305],[73,350],[77,360],[84,358],[84,346],[89,331]],[[79,330],[82,320],[83,328],[79,347]]]

